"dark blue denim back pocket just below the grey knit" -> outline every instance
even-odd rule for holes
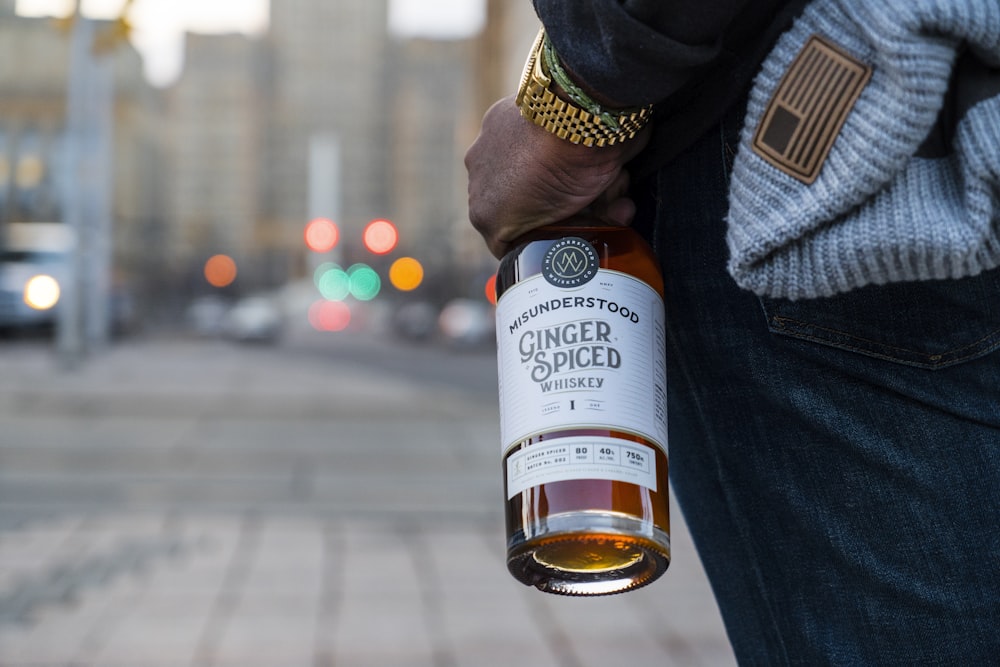
[[[947,368],[1000,347],[1000,269],[761,303],[773,333],[918,368]]]

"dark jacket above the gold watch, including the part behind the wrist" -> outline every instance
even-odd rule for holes
[[[506,1],[506,0],[503,0]],[[560,60],[608,105],[656,104],[643,175],[745,94],[808,0],[534,0]]]

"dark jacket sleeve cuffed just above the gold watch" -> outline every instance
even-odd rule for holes
[[[659,102],[732,48],[727,33],[774,15],[776,0],[534,0],[560,59],[621,106]],[[748,16],[749,15],[749,16]],[[739,21],[737,21],[739,19]]]

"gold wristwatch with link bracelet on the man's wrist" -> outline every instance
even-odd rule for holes
[[[599,114],[560,98],[552,90],[552,75],[542,54],[544,44],[545,30],[542,29],[528,54],[521,85],[514,98],[526,119],[560,139],[584,146],[613,146],[627,141],[649,121],[652,113],[649,106],[615,111],[600,109],[595,102],[594,107],[604,112]],[[608,123],[601,115],[613,121]]]

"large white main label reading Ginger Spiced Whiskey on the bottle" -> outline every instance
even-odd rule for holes
[[[633,433],[666,452],[665,328],[656,290],[607,269],[568,288],[537,274],[508,289],[496,312],[504,454],[532,436],[585,428]]]

